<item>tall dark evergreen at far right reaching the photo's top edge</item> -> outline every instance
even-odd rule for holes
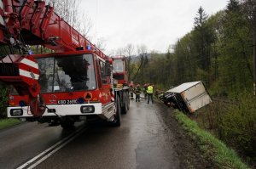
[[[250,28],[241,10],[241,3],[230,0],[222,19],[218,43],[218,81],[225,93],[236,97],[239,91],[252,88]]]

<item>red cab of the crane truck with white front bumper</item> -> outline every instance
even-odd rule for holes
[[[111,68],[105,59],[90,50],[32,56],[38,63],[41,106],[45,109],[35,116],[28,95],[10,94],[8,117],[66,128],[98,116],[120,125],[122,90],[115,91],[112,99]]]

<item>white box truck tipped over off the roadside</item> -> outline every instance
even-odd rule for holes
[[[168,107],[194,113],[212,102],[203,82],[186,82],[166,91],[161,97]]]

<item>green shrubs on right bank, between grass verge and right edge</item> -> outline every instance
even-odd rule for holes
[[[244,91],[230,103],[213,102],[201,109],[195,120],[253,164],[256,162],[255,110],[255,96]]]

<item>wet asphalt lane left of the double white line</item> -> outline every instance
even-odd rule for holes
[[[76,128],[82,125],[76,124]],[[0,168],[11,169],[22,165],[71,132],[38,122],[26,122],[0,130]]]

